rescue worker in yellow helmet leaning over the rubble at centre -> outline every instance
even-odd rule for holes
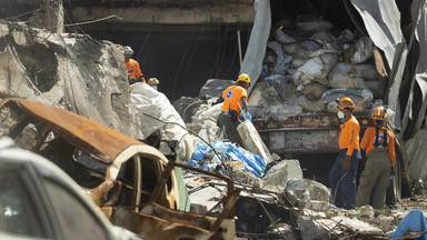
[[[228,87],[222,94],[219,96],[218,102],[224,100],[222,111],[218,118],[218,126],[225,128],[226,134],[231,142],[237,142],[244,147],[240,134],[237,131],[239,126],[239,116],[241,110],[245,111],[245,118],[249,121],[252,117],[248,112],[248,93],[250,87],[250,77],[241,73],[235,86]]]

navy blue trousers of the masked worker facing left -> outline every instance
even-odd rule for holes
[[[356,172],[359,160],[361,159],[360,151],[354,150],[351,154],[350,170],[341,169],[342,160],[346,157],[347,149],[341,149],[332,168],[329,171],[329,186],[332,202],[338,208],[354,209],[356,203]]]

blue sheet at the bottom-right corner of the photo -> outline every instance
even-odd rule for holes
[[[423,212],[418,209],[410,211],[408,214],[405,216],[404,219],[401,219],[396,230],[391,232],[391,239],[401,238],[405,236],[405,233],[409,231],[427,231],[426,218],[424,217]],[[427,236],[424,234],[415,239],[427,240]]]

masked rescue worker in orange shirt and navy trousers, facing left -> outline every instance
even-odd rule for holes
[[[355,103],[350,98],[337,99],[338,118],[342,119],[337,159],[329,171],[334,203],[338,208],[354,209],[356,203],[356,172],[360,156],[360,126],[352,116]]]

